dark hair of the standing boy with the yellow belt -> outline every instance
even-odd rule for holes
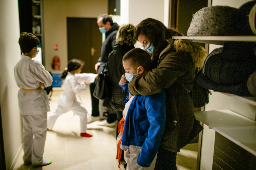
[[[22,53],[30,53],[30,51],[40,44],[40,40],[32,33],[23,32],[19,38],[20,49]]]

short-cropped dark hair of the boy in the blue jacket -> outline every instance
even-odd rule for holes
[[[134,69],[143,66],[145,71],[150,71],[150,55],[141,48],[134,48],[128,51],[122,58],[122,61],[127,60],[130,60]]]

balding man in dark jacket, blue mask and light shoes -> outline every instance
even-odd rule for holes
[[[119,25],[117,23],[113,23],[112,17],[109,15],[100,15],[97,20],[100,32],[105,33],[105,40],[102,43],[100,58],[98,62],[95,64],[95,70],[97,73],[101,73],[103,68],[108,61],[108,55],[113,50],[115,45],[115,39],[117,35],[117,30],[119,29]],[[87,123],[92,123],[97,120],[100,120],[99,116],[99,100],[93,96],[93,91],[95,90],[97,79],[94,83],[90,85],[91,91],[91,101],[92,101],[92,114],[88,118]],[[112,113],[112,114],[111,114]],[[116,125],[116,113],[108,110],[108,119],[102,122],[98,122],[98,125],[101,126],[115,126]]]

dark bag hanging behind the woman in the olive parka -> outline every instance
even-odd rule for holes
[[[185,84],[183,82],[181,82],[180,80],[176,80],[178,82],[178,84],[180,84],[180,86],[182,86],[182,88],[184,88],[184,90],[187,92],[187,94],[189,94],[191,96],[191,99],[194,103],[195,108],[202,108],[206,104],[208,104],[209,103],[209,94],[211,94],[211,91],[209,89],[200,87],[197,84],[197,81],[196,81],[197,77],[201,76],[202,74],[203,74],[202,69],[197,68],[195,82],[194,82],[192,91],[190,91],[187,88],[187,86],[185,86]]]

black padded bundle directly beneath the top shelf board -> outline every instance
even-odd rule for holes
[[[204,73],[218,84],[247,84],[249,76],[256,71],[256,55],[252,46],[253,43],[224,43],[222,52],[208,55]],[[221,48],[215,50],[220,51]]]

